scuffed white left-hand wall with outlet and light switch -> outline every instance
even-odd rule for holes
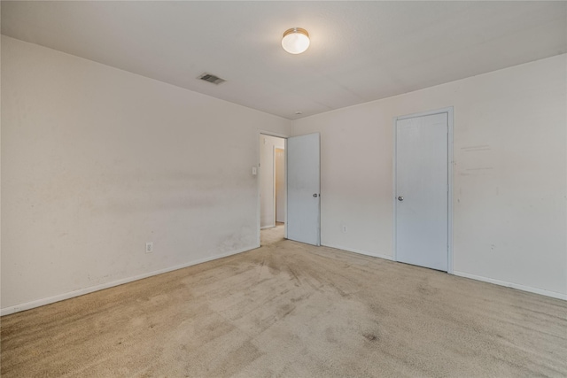
[[[259,129],[291,121],[2,36],[2,313],[257,247]]]

